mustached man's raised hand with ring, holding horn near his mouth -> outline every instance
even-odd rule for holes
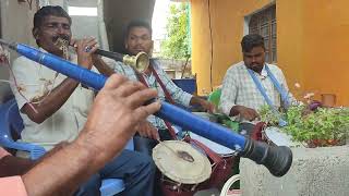
[[[71,44],[76,49],[77,64],[91,69],[93,65],[93,53],[98,49],[97,40],[93,37],[80,40],[73,39]]]

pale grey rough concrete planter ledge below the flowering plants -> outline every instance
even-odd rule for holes
[[[349,146],[292,148],[293,163],[282,177],[266,168],[241,159],[243,196],[348,196]]]

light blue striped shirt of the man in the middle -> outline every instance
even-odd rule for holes
[[[115,72],[127,76],[129,79],[139,81],[134,70],[131,66],[125,65],[125,64],[118,62],[118,61],[106,59],[106,58],[104,58],[104,60],[111,69],[115,70]],[[188,94],[186,91],[182,90],[180,87],[178,87],[168,77],[166,72],[160,68],[158,61],[151,60],[151,64],[153,65],[154,70],[158,74],[159,78],[164,83],[166,89],[168,90],[168,93],[170,94],[172,99],[176,101],[176,103],[182,105],[184,107],[189,107],[190,100],[192,99],[193,96],[191,94]],[[154,88],[157,90],[158,98],[163,101],[166,100],[165,93],[164,93],[161,86],[156,81],[156,77],[153,75],[153,73],[151,75],[143,74],[143,77],[151,88]],[[165,122],[155,115],[149,115],[147,120],[153,124],[153,126],[155,126],[158,130],[167,128],[165,125]]]

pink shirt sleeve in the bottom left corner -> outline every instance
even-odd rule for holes
[[[10,155],[0,147],[0,159]],[[21,176],[0,177],[0,195],[27,196]]]

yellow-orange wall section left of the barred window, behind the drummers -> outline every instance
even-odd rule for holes
[[[192,70],[196,73],[197,93],[201,95],[219,85],[226,70],[241,61],[240,39],[243,36],[244,15],[268,4],[270,0],[245,2],[246,0],[209,0],[210,39],[208,0],[191,0]]]

